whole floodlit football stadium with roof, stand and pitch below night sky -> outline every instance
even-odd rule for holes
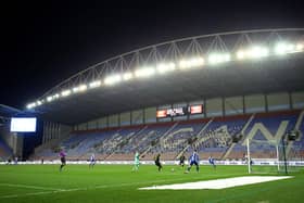
[[[143,47],[0,118],[0,202],[301,202],[304,28]]]

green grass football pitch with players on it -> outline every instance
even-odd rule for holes
[[[130,165],[67,165],[59,172],[59,165],[1,165],[0,203],[215,203],[215,202],[303,202],[304,170],[292,174],[294,178],[249,185],[220,190],[138,190],[155,185],[200,181],[248,176],[246,166],[201,166],[183,174],[179,166],[141,165],[131,173]],[[172,172],[172,168],[175,172]]]

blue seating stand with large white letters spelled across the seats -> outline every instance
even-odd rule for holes
[[[300,116],[301,115],[301,116]],[[301,120],[300,120],[301,119]],[[299,123],[300,122],[300,123]],[[174,161],[197,149],[202,160],[210,155],[217,160],[241,160],[246,152],[245,140],[277,139],[299,126],[301,131],[293,145],[301,148],[303,156],[303,113],[300,111],[259,113],[240,116],[192,119],[150,125],[118,127],[96,131],[74,131],[56,149],[45,149],[35,157],[58,158],[58,149],[65,149],[68,160],[88,160],[96,153],[97,160],[130,161],[138,151],[141,160],[153,160],[156,153],[162,160]],[[270,149],[252,149],[263,157]],[[291,152],[295,153],[295,152]]]

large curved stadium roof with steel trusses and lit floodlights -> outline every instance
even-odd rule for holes
[[[233,31],[149,46],[72,76],[28,109],[78,124],[160,104],[303,90],[303,30]]]

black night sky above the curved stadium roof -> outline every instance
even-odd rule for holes
[[[266,0],[2,4],[0,103],[24,109],[90,65],[165,40],[237,29],[304,27],[303,8],[301,1]]]

